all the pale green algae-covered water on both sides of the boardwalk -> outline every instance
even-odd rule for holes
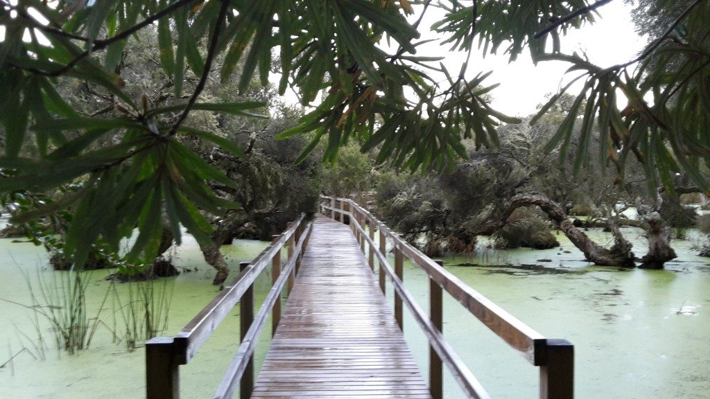
[[[636,255],[642,256],[643,237],[632,229],[624,232],[633,241]],[[609,239],[601,232],[591,234]],[[444,261],[448,270],[545,337],[572,341],[576,398],[709,397],[710,259],[694,256],[693,241],[672,242],[679,258],[667,263],[666,270],[618,270],[590,266],[564,236],[558,240],[562,247],[551,250],[484,248],[475,256]],[[173,288],[173,301],[165,335],[177,332],[217,293],[211,285],[214,273],[202,261],[199,249],[189,239],[183,241],[177,265],[192,271],[166,279]],[[236,268],[267,244],[235,241],[224,251]],[[23,273],[37,280],[57,272],[48,268],[43,249],[0,240],[0,298],[31,304]],[[97,270],[91,275],[89,315],[94,315],[111,285],[104,280],[107,273]],[[267,278],[258,281],[257,300],[266,294]],[[407,265],[405,284],[426,310],[424,273]],[[119,295],[125,295],[125,286],[116,286]],[[36,351],[29,340],[38,333],[32,314],[25,307],[0,301],[0,364],[28,347],[0,368],[0,398],[144,397],[142,347],[129,352],[125,345],[111,342],[108,327],[99,327],[91,348],[70,356],[55,349],[48,325],[43,325],[40,332],[49,349],[45,360],[33,359],[31,352]],[[110,327],[114,315],[108,304],[100,318]],[[236,351],[237,315],[232,312],[195,359],[180,368],[182,397],[214,393]],[[405,336],[417,361],[426,367],[427,342],[407,315],[405,310]],[[444,335],[493,398],[537,397],[537,368],[450,298],[444,298]],[[266,344],[268,338],[259,345],[258,358]],[[445,381],[445,389],[447,398],[463,398],[452,378]]]

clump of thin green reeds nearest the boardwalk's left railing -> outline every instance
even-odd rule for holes
[[[128,283],[111,283],[114,307],[114,339],[133,351],[168,328],[168,314],[173,300],[173,282],[167,278]],[[120,323],[120,324],[119,324]],[[119,336],[119,332],[122,336]]]

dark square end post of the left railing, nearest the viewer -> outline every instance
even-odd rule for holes
[[[179,399],[180,365],[175,361],[173,337],[146,342],[146,398]]]

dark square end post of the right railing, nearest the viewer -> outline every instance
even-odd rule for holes
[[[567,339],[547,339],[545,364],[540,366],[540,399],[574,398],[574,345]]]

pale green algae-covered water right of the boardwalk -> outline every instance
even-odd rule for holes
[[[624,230],[637,256],[646,250],[641,233]],[[601,231],[589,234],[611,241]],[[561,234],[560,248],[482,249],[444,261],[545,337],[574,344],[575,398],[710,398],[710,259],[694,255],[701,237],[689,238],[672,241],[679,257],[665,270],[591,266]],[[409,265],[405,283],[427,309],[425,275]],[[426,367],[426,341],[413,320],[405,332]],[[538,369],[450,298],[444,336],[493,398],[537,397]],[[464,398],[450,377],[445,390],[447,398]]]

